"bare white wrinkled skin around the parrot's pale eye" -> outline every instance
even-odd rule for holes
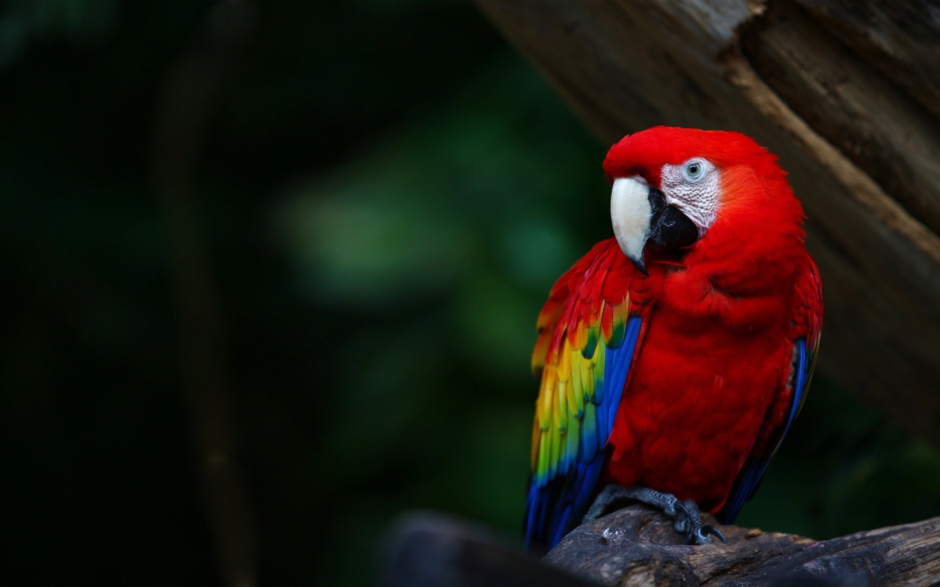
[[[675,206],[698,227],[702,236],[718,215],[721,186],[718,170],[708,160],[695,157],[678,165],[663,165],[660,190],[666,204]]]

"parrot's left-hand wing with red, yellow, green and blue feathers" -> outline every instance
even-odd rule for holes
[[[554,546],[594,494],[640,337],[640,317],[630,316],[634,275],[615,239],[599,242],[561,276],[540,313],[526,548]]]

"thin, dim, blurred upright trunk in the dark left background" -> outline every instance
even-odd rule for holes
[[[196,476],[219,574],[228,585],[242,587],[257,581],[256,520],[241,463],[226,318],[199,229],[193,186],[218,100],[235,70],[254,13],[248,5],[227,2],[212,16],[211,30],[200,34],[195,50],[166,72],[150,163],[173,254],[183,394]]]

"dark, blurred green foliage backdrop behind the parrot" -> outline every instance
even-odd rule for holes
[[[415,507],[515,539],[605,147],[468,3],[0,4],[4,581],[368,583]],[[938,485],[818,375],[739,523]]]

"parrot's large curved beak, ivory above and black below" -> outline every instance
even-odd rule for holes
[[[639,177],[614,179],[610,220],[620,250],[644,275],[650,274],[644,255],[648,241],[656,249],[678,249],[698,239],[696,224]]]

